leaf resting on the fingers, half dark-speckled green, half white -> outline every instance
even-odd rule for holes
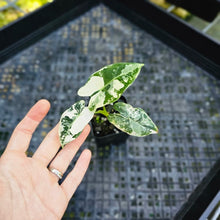
[[[92,119],[94,112],[85,107],[85,101],[81,100],[67,109],[60,118],[59,137],[61,146],[76,139],[84,127]]]

